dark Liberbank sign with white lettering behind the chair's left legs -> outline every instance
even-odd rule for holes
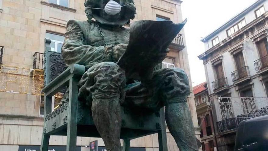
[[[40,146],[21,145],[19,151],[40,151]],[[48,151],[66,151],[66,146],[48,146]],[[77,146],[76,151],[81,151],[81,146]]]

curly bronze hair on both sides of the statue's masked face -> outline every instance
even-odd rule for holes
[[[135,14],[136,14],[136,7],[134,5],[134,0],[122,0],[122,1],[124,2],[124,4],[132,4],[132,5],[125,6],[130,11],[126,17],[129,19],[134,19]],[[85,0],[84,6],[86,6],[86,7],[99,7],[100,2],[102,2],[102,1],[100,1],[100,0]],[[86,8],[85,13],[86,13],[88,20],[90,21],[93,18],[92,9]]]

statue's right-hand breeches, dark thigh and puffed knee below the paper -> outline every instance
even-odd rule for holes
[[[126,106],[158,109],[167,104],[186,102],[190,93],[186,73],[179,68],[166,68],[153,72],[150,81],[136,82],[125,87]]]

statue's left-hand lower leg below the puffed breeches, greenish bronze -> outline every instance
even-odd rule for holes
[[[107,151],[121,151],[119,98],[93,99],[92,116]]]

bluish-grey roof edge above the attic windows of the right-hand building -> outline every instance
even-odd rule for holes
[[[208,39],[213,38],[215,35],[217,35],[219,32],[225,30],[227,27],[231,26],[232,24],[234,24],[235,22],[237,22],[238,20],[241,20],[247,13],[249,13],[250,11],[252,11],[253,9],[255,9],[259,4],[261,4],[262,2],[264,2],[265,0],[258,0],[257,2],[255,2],[254,4],[252,4],[251,6],[249,6],[248,8],[244,9],[241,13],[239,13],[238,15],[234,16],[233,18],[231,18],[230,20],[228,20],[226,23],[224,23],[221,27],[219,27],[217,30],[213,31],[212,33],[210,33],[209,35],[207,35],[206,37],[202,38],[201,41],[202,42],[206,42]]]

